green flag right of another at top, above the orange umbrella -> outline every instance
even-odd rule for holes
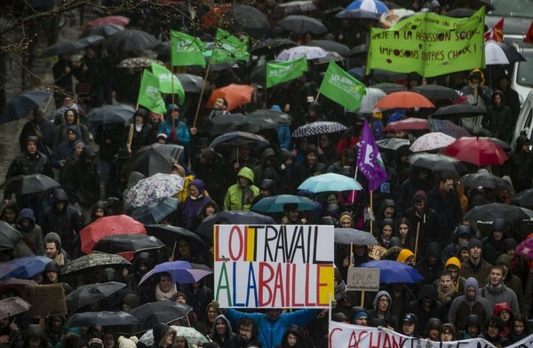
[[[248,60],[249,57],[248,36],[246,36],[244,41],[241,41],[226,30],[217,29],[217,36],[215,36],[215,43],[211,53],[211,64]]]

